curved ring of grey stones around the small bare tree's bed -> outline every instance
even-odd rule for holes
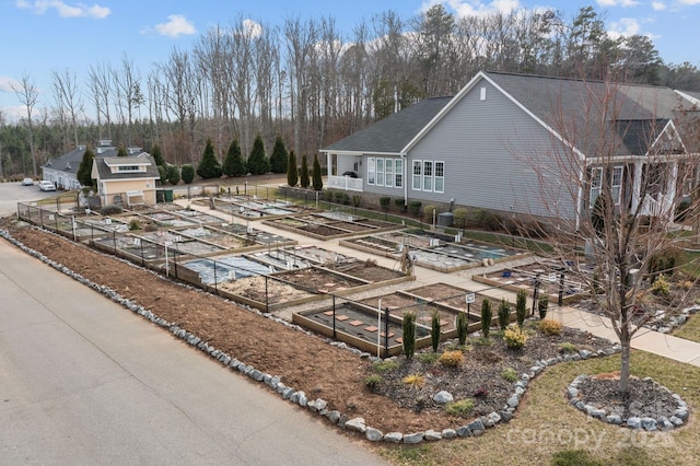
[[[588,375],[579,375],[576,378],[574,378],[573,382],[571,382],[571,384],[569,384],[569,386],[567,387],[567,398],[569,398],[569,404],[571,406],[585,412],[587,416],[594,419],[599,419],[603,422],[615,426],[626,426],[630,429],[641,429],[650,432],[669,431],[681,427],[684,422],[688,420],[688,405],[680,398],[680,395],[676,393],[672,393],[672,397],[676,400],[677,408],[670,419],[667,419],[664,416],[660,417],[658,419],[654,419],[651,417],[640,418],[635,416],[622,418],[619,415],[612,413],[606,407],[596,408],[593,405],[586,405],[579,398],[579,387],[584,381],[587,381],[590,378],[591,376]],[[651,377],[645,377],[643,380],[654,382]],[[668,388],[658,385],[656,382],[654,382],[654,384],[663,389],[668,391]]]

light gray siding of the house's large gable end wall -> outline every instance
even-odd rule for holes
[[[481,101],[485,86],[486,101]],[[551,206],[542,207],[547,202],[542,198],[557,197],[560,211],[557,217],[572,219],[575,217],[574,189],[561,186],[559,195],[544,195],[538,185],[539,171],[532,168],[533,162],[549,168],[558,166],[547,160],[552,151],[561,152],[561,143],[481,80],[408,153],[405,179],[408,198],[423,203],[450,202],[454,198],[457,206],[551,217]],[[444,193],[412,189],[415,160],[445,163]],[[555,177],[562,179],[561,175]],[[549,189],[552,187],[545,188]]]

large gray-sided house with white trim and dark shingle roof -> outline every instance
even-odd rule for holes
[[[616,202],[654,213],[673,207],[685,188],[677,165],[697,155],[676,127],[687,113],[697,102],[668,88],[482,71],[454,97],[421,101],[320,152],[329,188],[569,220],[593,202],[606,165]],[[658,153],[674,176],[641,193]],[[572,171],[578,186],[562,183]]]

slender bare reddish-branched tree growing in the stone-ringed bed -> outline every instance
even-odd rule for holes
[[[658,308],[654,293],[667,292],[656,281],[681,273],[684,238],[669,231],[677,208],[687,221],[699,212],[698,199],[681,203],[697,186],[698,121],[668,89],[569,81],[548,91],[553,136],[528,162],[539,179],[529,210],[556,219],[549,244],[619,339],[628,394],[631,340]],[[532,231],[533,220],[521,226]],[[585,259],[575,254],[582,242]],[[680,307],[682,289],[668,310]]]

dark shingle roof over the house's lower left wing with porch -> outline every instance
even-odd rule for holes
[[[399,153],[451,100],[452,97],[425,98],[323,150]]]

